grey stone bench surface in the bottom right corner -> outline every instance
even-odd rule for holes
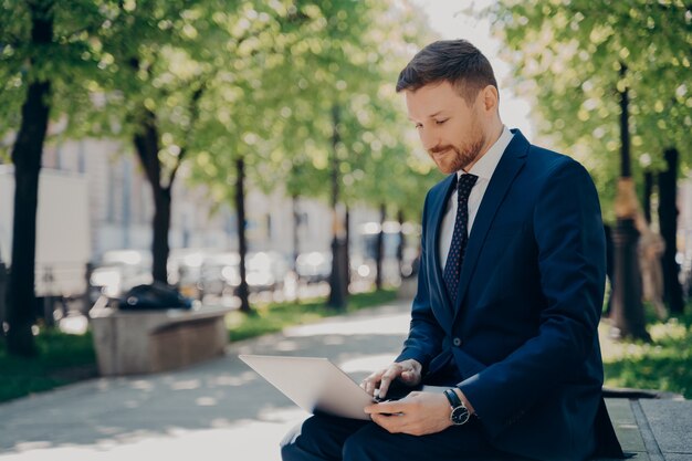
[[[611,397],[606,406],[629,460],[692,460],[692,400]]]

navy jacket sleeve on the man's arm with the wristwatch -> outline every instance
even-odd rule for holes
[[[596,188],[584,167],[568,160],[549,172],[537,197],[533,237],[545,300],[537,334],[459,384],[491,437],[583,367],[598,344],[606,264]]]

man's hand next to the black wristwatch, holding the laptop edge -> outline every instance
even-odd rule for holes
[[[439,392],[411,392],[408,397],[365,407],[373,421],[391,433],[424,436],[450,426],[450,405]]]

